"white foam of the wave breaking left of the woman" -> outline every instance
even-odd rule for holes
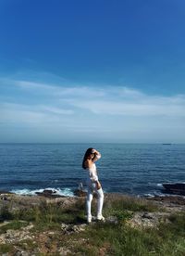
[[[54,188],[54,187],[46,187],[46,188],[33,189],[33,190],[28,188],[23,188],[23,189],[12,189],[10,192],[18,195],[36,196],[37,195],[36,192],[42,193],[43,190],[52,190],[55,192],[54,195],[74,197],[74,193],[68,187],[62,188],[62,189]]]

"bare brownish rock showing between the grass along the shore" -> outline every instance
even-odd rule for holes
[[[80,192],[80,191],[76,191]],[[77,193],[77,194],[78,194]],[[55,191],[52,190],[45,190],[43,193],[38,193],[37,196],[20,196],[13,193],[9,193],[8,191],[0,191],[0,211],[8,210],[8,212],[15,212],[15,211],[27,211],[28,209],[39,207],[42,204],[46,204],[50,207],[53,205],[54,207],[60,207],[61,209],[70,210],[67,212],[72,211],[72,214],[75,215],[76,211],[75,205],[79,204],[81,207],[84,207],[85,211],[85,192],[78,194],[80,197],[64,197],[60,195],[56,195]],[[127,221],[127,224],[130,227],[133,228],[148,228],[148,227],[156,227],[157,224],[160,224],[162,222],[167,223],[169,222],[169,216],[173,213],[177,212],[183,212],[185,211],[185,198],[183,197],[154,197],[154,198],[136,198],[136,197],[129,197],[124,196],[120,194],[105,194],[105,206],[108,207],[108,202],[114,201],[115,198],[119,198],[120,200],[123,199],[124,201],[130,203],[130,201],[133,201],[133,203],[139,203],[139,204],[154,204],[154,207],[158,209],[157,211],[125,211],[130,217]],[[72,209],[72,210],[71,210]],[[125,214],[125,213],[124,213]],[[5,214],[4,214],[5,215]],[[3,214],[0,215],[0,230],[7,226],[8,224],[11,224],[11,220],[6,220]],[[105,222],[109,224],[115,224],[117,225],[120,221],[120,214],[112,214],[109,216],[106,216]],[[68,217],[67,217],[68,218]],[[65,237],[73,236],[73,234],[78,234],[80,232],[83,232],[86,230],[88,224],[86,224],[86,220],[77,220],[76,223],[60,223],[60,229],[58,230],[49,230],[49,231],[38,231],[36,232],[32,231],[34,230],[35,224],[32,222],[24,222],[22,220],[19,221],[19,224],[21,224],[21,227],[19,230],[13,230],[11,228],[7,228],[5,232],[0,233],[0,247],[1,245],[13,245],[12,251],[14,251],[14,254],[4,254],[6,255],[17,255],[17,256],[27,256],[27,255],[38,255],[39,253],[49,254],[53,253],[50,248],[47,249],[47,243],[48,241],[52,243],[56,243],[56,236],[61,237],[63,236],[63,239],[66,239]],[[93,224],[96,224],[96,220],[93,221]],[[54,239],[54,240],[53,240]],[[58,239],[58,238],[57,238]],[[81,238],[82,239],[82,238]],[[35,249],[29,249],[29,250],[23,250],[22,247],[17,246],[20,243],[25,244],[28,246],[27,241],[30,241],[29,243],[32,243],[33,248],[34,244],[36,244],[38,241],[41,244],[41,248],[35,247]],[[72,238],[71,243],[73,244],[75,242],[75,239]],[[85,240],[80,240],[81,243],[85,242]],[[59,246],[61,244],[61,241],[57,240],[57,248],[55,249],[55,253],[57,252],[57,255],[73,255],[71,252],[70,247],[61,247]],[[68,244],[68,242],[67,242]],[[29,251],[29,252],[28,252]],[[71,253],[71,254],[70,254]],[[103,254],[104,255],[104,254]]]

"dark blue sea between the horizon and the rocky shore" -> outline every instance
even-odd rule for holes
[[[105,192],[160,195],[161,184],[185,182],[185,145],[160,144],[0,144],[0,190],[34,194],[45,188],[72,196],[86,171],[85,150],[102,154],[96,162]]]

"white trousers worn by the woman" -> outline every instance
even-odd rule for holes
[[[93,192],[97,194],[97,216],[102,216],[104,192],[102,188],[97,189],[96,184],[94,182],[88,182],[88,191],[86,199],[87,216],[92,217]]]

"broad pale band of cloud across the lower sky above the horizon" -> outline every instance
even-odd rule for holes
[[[63,134],[66,141],[150,141],[150,137],[185,141],[184,95],[151,96],[127,86],[21,79],[1,80],[0,93],[2,134],[13,127],[34,127],[39,136],[56,141],[63,140]]]

